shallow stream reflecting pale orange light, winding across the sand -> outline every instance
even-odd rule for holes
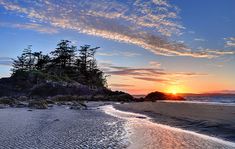
[[[161,149],[232,149],[235,143],[215,137],[202,135],[193,131],[153,123],[150,118],[131,112],[123,112],[106,106],[103,110],[115,117],[125,119],[126,131],[129,132],[131,145],[129,148],[161,148]]]

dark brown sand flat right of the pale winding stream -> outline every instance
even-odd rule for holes
[[[155,123],[235,142],[235,106],[190,102],[114,104],[115,109],[150,117]]]

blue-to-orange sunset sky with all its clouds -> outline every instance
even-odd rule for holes
[[[0,78],[28,45],[101,47],[112,90],[235,91],[234,0],[0,0]]]

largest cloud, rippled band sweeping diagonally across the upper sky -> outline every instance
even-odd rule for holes
[[[31,21],[134,44],[157,55],[214,58],[222,54],[198,51],[168,37],[182,34],[179,8],[166,0],[0,0],[6,10]],[[38,29],[38,27],[35,27]]]

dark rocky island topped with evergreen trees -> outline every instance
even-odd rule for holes
[[[78,49],[68,40],[61,40],[49,54],[33,52],[29,46],[14,59],[11,77],[0,79],[0,104],[24,107],[27,102],[43,109],[64,101],[81,107],[83,101],[131,101],[131,95],[108,88],[95,59],[97,49]]]

